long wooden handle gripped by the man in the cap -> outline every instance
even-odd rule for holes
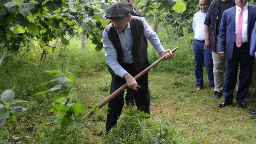
[[[172,53],[175,52],[176,50],[178,50],[179,47],[176,47],[172,50]],[[154,66],[156,66],[157,64],[159,64],[160,62],[162,62],[162,60],[164,60],[164,56],[160,59],[158,59],[156,62],[154,62],[153,64],[151,64],[150,66],[148,66],[147,68],[145,68],[144,70],[142,70],[142,72],[140,72],[139,74],[137,74],[136,76],[134,76],[135,80],[137,80],[138,78],[140,78],[143,74],[145,74],[146,72],[148,72],[151,68],[153,68]],[[103,100],[102,102],[100,102],[100,104],[98,105],[99,108],[102,108],[103,106],[105,106],[108,102],[110,102],[110,100],[112,100],[113,98],[115,98],[118,94],[120,94],[122,91],[124,91],[126,88],[128,88],[127,84],[122,85],[120,88],[118,88],[115,92],[113,92],[112,94],[110,94],[110,96],[108,96],[105,100]],[[92,115],[92,111],[88,112],[86,115],[84,115],[83,117],[86,116],[91,116]]]

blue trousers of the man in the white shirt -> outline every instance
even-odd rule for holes
[[[212,51],[206,51],[204,49],[204,42],[199,42],[196,39],[194,39],[193,45],[195,58],[196,86],[204,88],[203,64],[205,62],[205,68],[207,70],[209,79],[209,87],[214,88]]]

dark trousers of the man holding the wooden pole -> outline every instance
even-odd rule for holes
[[[133,77],[139,74],[142,70],[150,66],[148,60],[145,62],[144,66],[140,71],[135,70],[134,64],[126,64],[122,63],[122,67]],[[149,112],[149,106],[150,106],[150,96],[148,92],[148,72],[138,78],[137,83],[139,86],[141,86],[140,89],[132,90],[135,98],[135,102],[137,105],[137,108],[139,110],[144,111],[145,113],[150,114]],[[126,83],[126,80],[121,78],[120,76],[117,76],[116,79],[112,79],[111,82],[111,94],[115,92],[118,88],[120,88],[122,85]],[[121,112],[122,108],[124,106],[124,92],[121,92],[113,98],[110,102],[108,102],[108,113],[107,114],[107,120],[106,120],[106,133],[116,124]]]

